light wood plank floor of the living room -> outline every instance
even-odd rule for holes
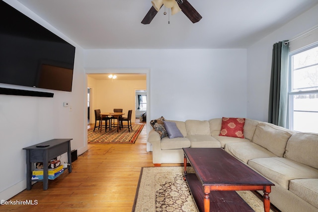
[[[50,180],[48,190],[38,182],[10,199],[37,200],[37,205],[1,205],[0,211],[131,212],[141,167],[154,166],[146,137],[145,125],[134,144],[88,144],[88,151],[73,162],[72,173]]]

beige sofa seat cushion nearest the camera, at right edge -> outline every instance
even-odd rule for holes
[[[318,179],[291,180],[289,191],[318,208]]]

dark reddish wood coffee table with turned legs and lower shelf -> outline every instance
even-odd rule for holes
[[[201,212],[253,211],[235,191],[262,190],[264,211],[274,184],[221,148],[183,148],[184,180]],[[187,173],[187,162],[195,174]],[[211,203],[211,205],[210,205]]]

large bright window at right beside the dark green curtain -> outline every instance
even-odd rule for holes
[[[318,133],[318,43],[289,55],[290,129]]]

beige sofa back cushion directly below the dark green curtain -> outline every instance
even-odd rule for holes
[[[288,139],[295,132],[270,123],[259,123],[252,141],[279,157],[283,157]]]

